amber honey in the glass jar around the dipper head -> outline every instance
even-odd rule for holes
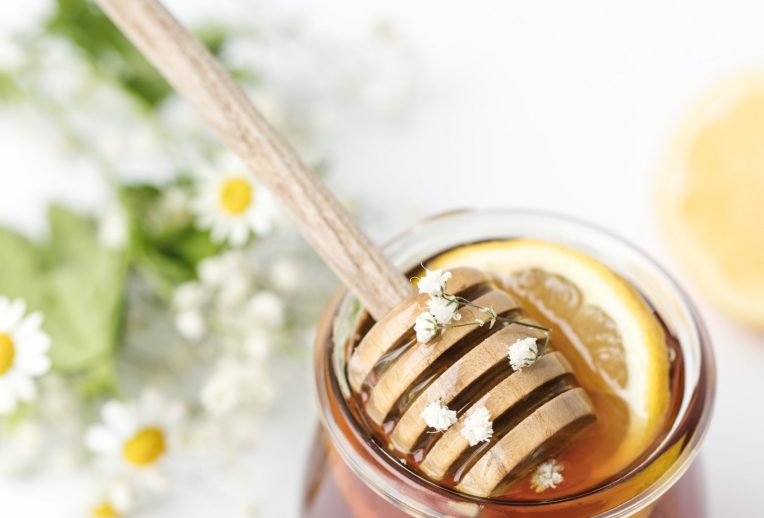
[[[574,382],[586,389],[597,412],[596,424],[576,436],[567,449],[555,455],[565,468],[564,483],[536,493],[529,484],[530,472],[526,472],[508,480],[491,498],[472,498],[454,490],[464,471],[460,470],[459,462],[443,480],[428,480],[418,469],[431,443],[426,434],[408,455],[391,449],[385,440],[387,434],[392,432],[396,415],[400,415],[407,404],[405,398],[398,402],[401,408],[393,411],[381,427],[375,427],[363,417],[367,391],[354,394],[347,387],[343,389],[343,381],[336,377],[337,357],[347,356],[352,351],[359,335],[368,329],[370,323],[357,321],[355,336],[346,341],[335,341],[338,327],[334,319],[324,322],[317,340],[320,347],[317,349],[319,399],[325,430],[329,435],[326,432],[319,434],[308,468],[306,516],[608,515],[611,510],[626,508],[630,502],[656,491],[653,488],[667,473],[676,469],[676,464],[686,455],[699,430],[702,432],[704,429],[710,401],[707,376],[690,381],[697,378],[698,358],[691,355],[688,364],[688,344],[683,343],[687,339],[674,332],[674,315],[661,313],[660,307],[656,307],[660,304],[652,303],[655,298],[645,293],[645,286],[635,286],[644,293],[645,300],[653,308],[654,318],[664,331],[662,347],[670,360],[665,372],[669,394],[661,415],[661,425],[654,431],[654,436],[641,442],[638,448],[624,449],[630,412],[627,402],[609,386],[617,385],[623,373],[612,364],[597,361],[597,358],[617,355],[617,351],[603,346],[593,355],[591,344],[583,344],[565,318],[560,318],[543,301],[535,298],[532,290],[526,289],[527,281],[527,278],[520,277],[504,278],[502,287],[521,301],[527,316],[552,330],[551,348],[563,353],[575,372],[575,381],[561,382]],[[341,314],[343,308],[335,304],[328,313],[336,317],[338,312]],[[703,353],[707,344],[700,345]],[[344,349],[344,352],[337,354],[335,348]],[[393,361],[395,355],[396,351],[390,351],[365,384],[373,384],[375,377],[384,371],[385,362]],[[704,370],[702,364],[700,367],[701,374],[708,373],[710,368],[706,365]],[[607,372],[603,373],[603,369]],[[496,371],[492,374],[500,378],[504,373]],[[460,404],[467,404],[471,397],[465,395]],[[496,425],[502,426],[501,423]],[[619,454],[614,455],[614,452]],[[461,461],[469,462],[469,459]],[[669,496],[664,495],[657,507],[645,504],[641,507],[635,505],[634,508],[639,515],[652,512],[653,516],[676,516],[676,509],[682,509],[682,513],[692,509],[693,516],[702,516],[702,501],[687,499],[688,495],[698,494],[698,484],[697,475],[685,478]],[[676,495],[681,495],[681,498],[677,500]],[[634,515],[636,511],[623,515]]]

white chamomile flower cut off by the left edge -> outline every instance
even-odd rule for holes
[[[0,297],[0,414],[13,411],[20,401],[33,401],[33,378],[50,369],[50,338],[40,328],[42,315],[25,315],[22,300]]]

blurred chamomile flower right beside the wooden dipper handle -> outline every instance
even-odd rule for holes
[[[251,234],[265,235],[273,229],[276,205],[240,163],[226,160],[221,169],[206,175],[194,211],[213,241],[241,247]]]

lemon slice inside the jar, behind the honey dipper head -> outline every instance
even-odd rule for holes
[[[581,357],[568,359],[579,382],[628,408],[628,422],[619,424],[622,441],[609,459],[613,469],[654,440],[668,406],[668,354],[663,328],[631,285],[577,250],[530,239],[467,245],[428,264],[456,266],[499,276],[524,302],[541,308],[543,319],[575,337],[573,352]]]

